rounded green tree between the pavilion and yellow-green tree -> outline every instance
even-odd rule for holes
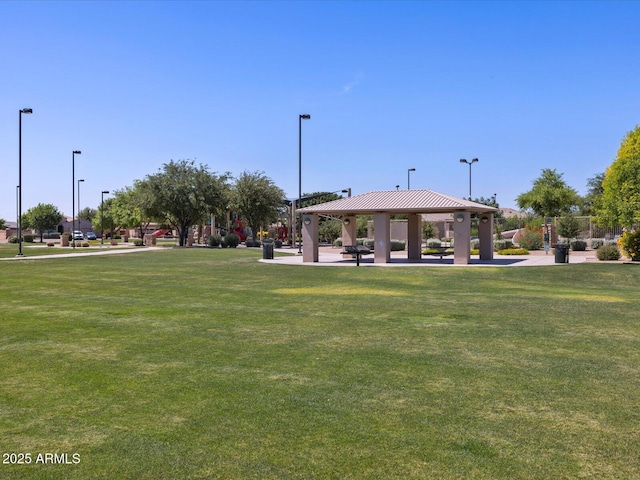
[[[559,217],[580,204],[580,195],[562,179],[555,169],[544,168],[533,188],[516,199],[518,207],[529,209],[540,217]]]

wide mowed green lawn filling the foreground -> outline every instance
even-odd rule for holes
[[[0,478],[640,478],[640,268],[260,256],[1,262]]]

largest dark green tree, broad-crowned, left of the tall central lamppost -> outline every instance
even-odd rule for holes
[[[229,204],[229,174],[216,175],[191,160],[171,160],[160,171],[140,183],[154,216],[166,219],[184,246],[189,228],[211,214],[226,211]]]

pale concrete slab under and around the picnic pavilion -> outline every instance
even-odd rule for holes
[[[303,263],[302,255],[297,253],[295,248],[275,249],[276,252],[285,255],[277,256],[273,260],[260,260],[261,262],[274,265],[304,265],[317,267],[355,267],[355,258],[343,258],[340,248],[322,247],[318,253],[318,262]],[[569,263],[584,263],[597,261],[595,252],[569,252]],[[419,261],[409,261],[407,252],[391,252],[391,263],[374,263],[373,254],[362,256],[361,267],[537,267],[545,265],[567,265],[566,263],[555,263],[553,252],[545,254],[543,251],[531,252],[529,255],[508,255],[502,256],[494,254],[493,260],[479,260],[477,255],[471,256],[471,263],[468,265],[454,265],[453,257],[423,257]]]

